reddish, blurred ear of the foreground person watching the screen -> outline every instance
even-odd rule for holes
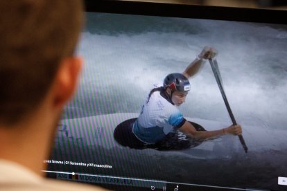
[[[62,107],[73,96],[82,71],[82,57],[67,57],[60,63],[55,76],[54,107]]]

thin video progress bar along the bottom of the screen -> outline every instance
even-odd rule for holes
[[[215,186],[215,185],[201,185],[201,184],[193,184],[193,183],[179,183],[179,182],[171,182],[171,181],[160,181],[160,180],[152,180],[152,179],[137,179],[137,178],[128,178],[128,177],[120,177],[120,176],[105,176],[105,175],[96,175],[96,174],[84,174],[84,173],[75,173],[75,172],[58,172],[58,171],[50,171],[50,170],[42,170],[42,172],[49,172],[55,174],[67,174],[67,175],[78,175],[78,176],[94,176],[98,178],[107,178],[107,179],[122,179],[122,180],[130,180],[130,181],[140,181],[146,183],[157,183],[157,184],[177,184],[177,185],[191,185],[191,186],[200,186],[200,187],[207,187],[207,188],[223,188],[223,189],[230,189],[230,190],[247,190],[247,191],[258,191],[258,189],[248,189],[248,188],[229,188],[229,187],[222,187],[222,186]],[[95,182],[96,183],[96,182]],[[150,184],[148,184],[150,186]]]

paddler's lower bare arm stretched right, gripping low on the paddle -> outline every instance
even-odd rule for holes
[[[184,125],[180,127],[178,130],[182,131],[182,133],[190,136],[191,138],[195,139],[207,139],[207,138],[214,138],[216,136],[223,136],[225,134],[232,134],[232,135],[241,135],[242,129],[240,125],[232,125],[223,129],[215,130],[215,131],[196,131],[195,127],[186,120]]]

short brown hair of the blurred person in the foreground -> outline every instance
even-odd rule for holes
[[[0,1],[0,125],[12,125],[43,100],[82,26],[80,0]]]

